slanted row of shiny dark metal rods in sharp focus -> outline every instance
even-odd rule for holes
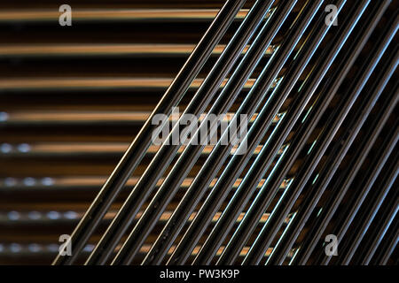
[[[53,264],[82,257],[153,145],[153,119],[173,114],[190,96],[188,88],[245,3],[223,5],[75,227],[72,256],[59,255]],[[396,9],[388,0],[256,1],[85,264],[132,264],[150,234],[156,237],[141,264],[395,264]],[[255,68],[262,70],[256,77]],[[209,119],[227,112],[234,116],[224,128]],[[203,119],[193,127],[186,115]],[[239,143],[223,143],[233,126]],[[174,143],[184,131],[189,142]],[[217,133],[217,140],[200,163],[204,133]],[[195,165],[200,170],[156,230]]]

